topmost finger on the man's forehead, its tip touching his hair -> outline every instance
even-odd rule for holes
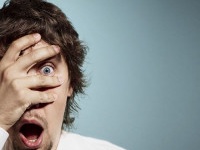
[[[8,50],[6,51],[2,60],[6,62],[15,62],[18,59],[19,54],[22,50],[30,47],[31,45],[36,44],[40,39],[41,39],[40,34],[35,33],[35,34],[25,35],[13,41]]]

